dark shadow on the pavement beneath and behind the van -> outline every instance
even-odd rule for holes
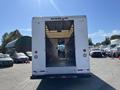
[[[37,90],[116,90],[96,75],[89,78],[43,79]]]

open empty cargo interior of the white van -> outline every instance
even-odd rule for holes
[[[45,21],[46,67],[76,66],[74,21]]]

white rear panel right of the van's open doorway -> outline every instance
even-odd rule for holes
[[[75,51],[78,73],[89,71],[88,32],[86,17],[75,18]]]

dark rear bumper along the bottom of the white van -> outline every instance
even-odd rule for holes
[[[88,78],[91,73],[85,74],[49,74],[49,75],[32,75],[31,79],[46,79],[46,78]]]

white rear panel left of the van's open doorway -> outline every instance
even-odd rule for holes
[[[45,67],[45,25],[43,18],[32,20],[32,74],[44,74]]]

